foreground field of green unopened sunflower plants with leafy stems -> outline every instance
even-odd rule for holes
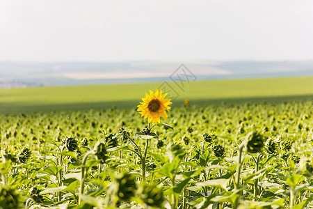
[[[313,208],[312,96],[192,103],[2,114],[0,208]]]

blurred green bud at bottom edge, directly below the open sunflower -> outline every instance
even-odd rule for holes
[[[162,208],[164,196],[161,189],[152,185],[144,185],[140,189],[140,198],[147,206]]]

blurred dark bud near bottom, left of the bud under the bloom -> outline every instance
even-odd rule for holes
[[[132,196],[135,196],[137,189],[136,178],[129,173],[124,173],[116,178],[118,183],[118,197],[123,201],[129,201]]]

